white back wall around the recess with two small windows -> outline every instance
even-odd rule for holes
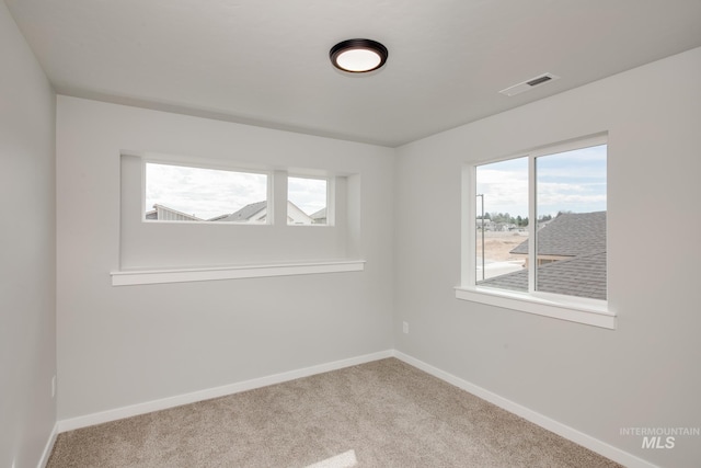
[[[57,115],[59,420],[392,347],[393,150],[66,96]],[[366,269],[113,287],[124,150],[359,174]]]

